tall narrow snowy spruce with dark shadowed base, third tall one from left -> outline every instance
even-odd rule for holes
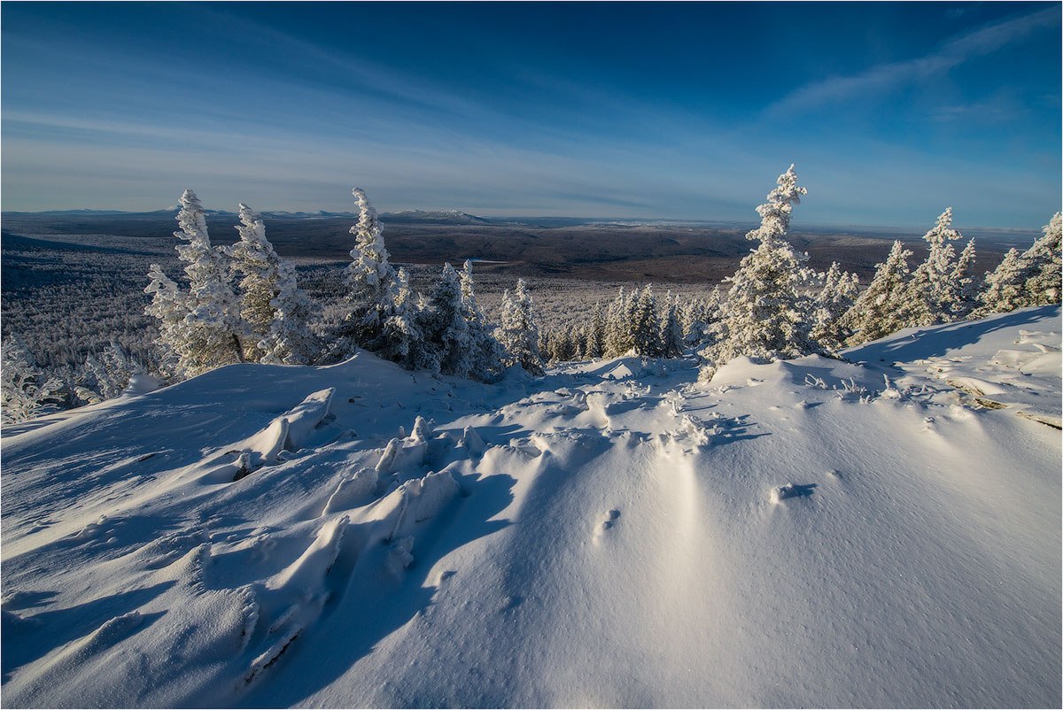
[[[351,264],[347,268],[347,304],[350,310],[333,334],[330,357],[349,357],[356,348],[371,351],[392,350],[384,341],[384,323],[394,315],[392,298],[395,272],[388,263],[381,222],[366,191],[351,190],[358,202],[358,222],[351,227],[355,237]]]

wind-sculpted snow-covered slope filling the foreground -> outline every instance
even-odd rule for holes
[[[1058,707],[1060,332],[232,366],[9,427],[4,705]]]

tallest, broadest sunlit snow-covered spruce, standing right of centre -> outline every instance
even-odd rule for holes
[[[790,226],[793,206],[808,190],[797,186],[794,167],[779,175],[778,187],[757,207],[760,226],[746,239],[760,241],[729,277],[727,307],[721,339],[709,351],[725,362],[739,355],[759,359],[791,358],[817,352],[809,338],[811,299],[800,292],[807,281],[808,258],[798,255],[782,237]]]

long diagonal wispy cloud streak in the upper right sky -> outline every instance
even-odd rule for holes
[[[851,77],[831,77],[808,84],[769,106],[770,115],[822,108],[829,104],[883,92],[905,84],[942,74],[976,56],[991,54],[1039,29],[1058,27],[1059,6],[982,27],[946,41],[930,54],[873,67]]]

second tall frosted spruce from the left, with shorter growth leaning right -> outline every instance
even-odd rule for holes
[[[294,268],[266,238],[266,224],[240,203],[240,240],[226,250],[239,280],[240,316],[250,328],[243,349],[249,360],[306,365],[317,354],[308,327],[310,299],[299,288]]]

